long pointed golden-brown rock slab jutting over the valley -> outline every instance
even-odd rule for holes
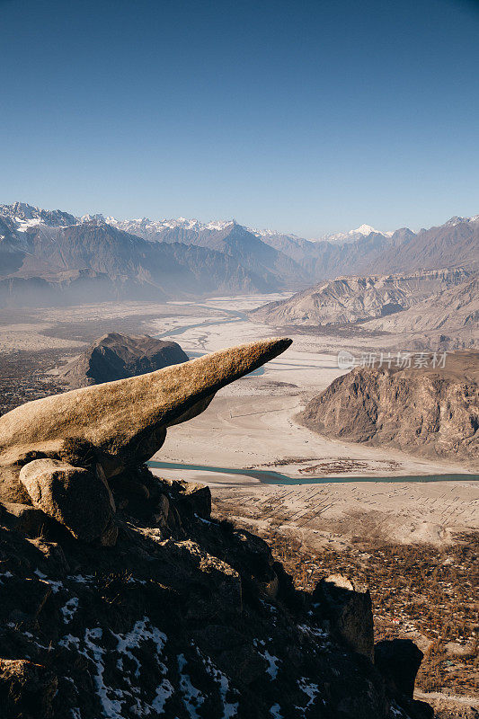
[[[161,448],[168,426],[202,412],[218,389],[261,367],[290,343],[251,342],[22,404],[0,417],[0,466],[11,466],[35,449],[58,452],[67,438],[92,444],[104,457],[107,475],[149,459]]]

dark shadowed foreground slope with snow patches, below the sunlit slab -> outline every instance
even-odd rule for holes
[[[430,716],[329,634],[262,539],[200,518],[196,486],[141,467],[110,484],[115,547],[47,517],[41,537],[9,529],[3,510],[2,719]]]

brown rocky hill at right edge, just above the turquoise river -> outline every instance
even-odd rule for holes
[[[479,352],[411,368],[357,367],[307,405],[300,420],[326,435],[440,457],[479,459]]]

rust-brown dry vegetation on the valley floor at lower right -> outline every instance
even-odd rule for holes
[[[217,505],[218,516],[229,514]],[[233,513],[231,513],[233,515]],[[479,534],[446,548],[353,538],[342,549],[312,551],[298,534],[254,529],[268,541],[298,589],[344,573],[365,581],[373,601],[376,641],[411,638],[424,652],[416,686],[424,692],[475,696],[479,670],[477,587]]]

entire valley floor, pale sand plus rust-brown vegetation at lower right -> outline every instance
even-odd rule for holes
[[[172,339],[193,357],[271,336],[271,327],[251,321],[247,313],[276,298],[121,303],[17,315],[4,310],[0,361],[9,372],[12,358],[21,362],[23,370],[12,374],[7,384],[22,387],[22,371],[23,377],[28,375],[23,395],[16,393],[23,397],[20,401],[26,401],[50,394],[55,364],[71,359],[103,333],[148,333]],[[470,630],[475,609],[473,565],[469,564],[474,562],[474,552],[468,547],[479,530],[479,482],[474,468],[466,462],[412,457],[391,448],[327,439],[298,424],[297,413],[309,398],[347,371],[338,368],[337,352],[362,351],[365,341],[361,338],[358,346],[354,338],[311,333],[295,333],[293,340],[288,351],[265,368],[218,393],[199,417],[170,428],[164,447],[154,457],[169,466],[154,466],[153,471],[170,479],[208,484],[217,515],[271,541],[300,586],[309,586],[316,576],[333,573],[334,568],[361,573],[369,562],[365,564],[365,557],[373,556],[374,576],[365,570],[365,578],[371,581],[378,638],[394,630],[395,635],[422,643],[429,652],[421,670],[424,690],[440,694],[445,688],[446,694],[470,695],[474,691]],[[381,337],[369,340],[383,341]],[[388,342],[392,347],[391,338]],[[46,363],[52,371],[45,385]],[[9,408],[5,405],[4,411]],[[434,475],[453,478],[428,481]],[[405,477],[419,481],[404,481]],[[409,553],[405,559],[403,550]],[[340,556],[343,566],[338,564]],[[450,576],[442,576],[443,563],[452,566]],[[393,581],[393,565],[406,578],[404,586]],[[417,572],[412,577],[412,566],[420,567],[420,581]],[[433,582],[428,580],[431,574],[436,578]],[[375,581],[381,591],[373,589]],[[384,590],[387,581],[395,594],[391,608]],[[432,611],[436,606],[438,611]],[[456,654],[445,649],[448,643],[455,645],[451,652]],[[454,681],[448,681],[448,672]]]

